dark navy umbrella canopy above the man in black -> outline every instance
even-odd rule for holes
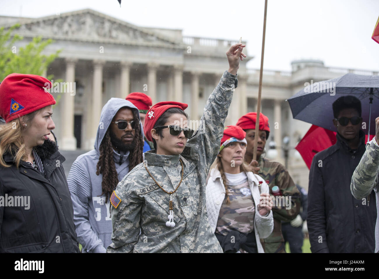
[[[379,76],[345,74],[335,79],[306,83],[304,86],[304,89],[287,100],[293,118],[337,132],[332,121],[332,104],[341,96],[352,95],[362,104],[362,118],[366,125],[361,128],[366,134],[371,99],[370,134],[375,134],[375,118],[379,117]]]

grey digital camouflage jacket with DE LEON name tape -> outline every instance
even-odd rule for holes
[[[113,243],[107,252],[222,252],[208,221],[205,180],[218,154],[236,77],[225,71],[182,154],[145,153],[147,169],[168,192],[179,184],[179,159],[183,162],[183,181],[172,195],[175,227],[166,227],[170,195],[155,184],[141,163],[115,190],[121,202],[111,209]]]

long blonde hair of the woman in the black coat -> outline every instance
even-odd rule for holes
[[[24,115],[22,120],[29,124],[39,110]],[[20,161],[26,161],[25,143],[23,141],[22,131],[25,131],[25,126],[22,125],[21,119],[16,118],[8,123],[0,124],[0,165],[10,167],[4,161],[3,155],[11,153],[14,156],[14,164],[19,167]]]

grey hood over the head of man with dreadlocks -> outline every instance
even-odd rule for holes
[[[110,98],[108,102],[103,106],[103,109],[100,113],[100,122],[99,127],[97,127],[96,140],[94,144],[94,148],[99,153],[100,144],[105,136],[106,131],[108,131],[108,127],[112,122],[114,115],[121,109],[122,107],[128,107],[132,111],[136,111],[139,118],[139,110],[135,105],[133,105],[130,101],[121,98]],[[143,126],[141,125],[141,134],[142,137],[144,135]]]

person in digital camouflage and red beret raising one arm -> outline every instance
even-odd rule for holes
[[[208,222],[205,180],[218,154],[239,59],[246,57],[243,47],[228,50],[229,70],[208,98],[192,137],[186,104],[160,102],[147,112],[145,136],[155,150],[146,152],[145,161],[113,192],[113,243],[107,252],[222,252]]]

